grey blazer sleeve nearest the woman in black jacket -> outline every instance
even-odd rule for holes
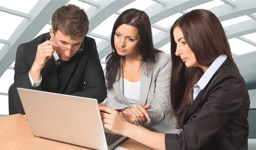
[[[170,77],[172,62],[171,58],[162,58],[165,61],[161,64],[155,80],[154,97],[151,102],[151,107],[147,110],[151,121],[147,121],[144,125],[157,125],[161,123],[167,116],[171,105],[170,96]]]

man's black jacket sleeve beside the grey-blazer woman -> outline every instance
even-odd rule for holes
[[[101,103],[107,97],[107,88],[94,39],[92,40],[90,51],[84,71],[84,88],[82,91],[71,95],[97,99],[98,103]]]

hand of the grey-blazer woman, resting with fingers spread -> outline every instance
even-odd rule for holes
[[[147,109],[151,107],[151,104],[147,104],[144,107],[141,105],[137,105],[133,108],[125,108],[126,114],[130,114],[134,119],[137,119],[140,121],[140,125],[143,125],[148,121],[150,121],[150,116],[147,112]],[[134,120],[135,121],[135,120]]]

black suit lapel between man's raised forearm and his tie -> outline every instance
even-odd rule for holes
[[[45,63],[45,66],[41,71],[41,75],[47,78],[47,82],[51,87],[52,92],[57,93],[58,92],[57,68],[55,66],[53,57],[48,59],[48,61]]]

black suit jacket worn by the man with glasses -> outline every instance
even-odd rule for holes
[[[53,57],[46,62],[41,70],[41,86],[35,88],[32,86],[28,73],[35,61],[38,45],[47,40],[50,40],[49,33],[42,34],[30,42],[20,44],[17,48],[14,67],[14,105],[17,112],[25,114],[17,92],[18,87],[94,98],[99,103],[103,102],[107,97],[105,77],[96,42],[90,37],[84,37],[83,51],[76,53],[69,61],[64,63],[60,87],[58,87],[57,68]]]

